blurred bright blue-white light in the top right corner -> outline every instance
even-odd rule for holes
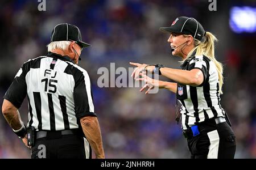
[[[256,8],[249,6],[232,7],[229,26],[236,33],[256,32]]]

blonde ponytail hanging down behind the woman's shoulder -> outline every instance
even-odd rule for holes
[[[187,35],[184,35],[187,36]],[[191,54],[196,50],[196,56],[201,56],[202,54],[210,58],[214,64],[216,65],[217,71],[218,71],[218,80],[220,82],[220,94],[223,94],[222,92],[222,85],[223,85],[223,66],[221,62],[218,62],[217,59],[214,56],[214,42],[217,42],[218,39],[210,32],[206,32],[205,38],[203,42],[194,39],[194,45],[195,48],[191,50],[191,52],[188,53],[188,56],[191,56]]]

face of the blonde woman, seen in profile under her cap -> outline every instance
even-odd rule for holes
[[[187,37],[184,37],[182,33],[171,33],[168,42],[170,43],[170,46],[174,51],[172,52],[173,56],[183,56],[183,53],[181,50],[184,51],[184,48],[186,46],[186,42],[188,41]]]

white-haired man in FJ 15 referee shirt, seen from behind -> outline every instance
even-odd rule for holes
[[[78,27],[56,25],[48,54],[25,62],[3,97],[3,116],[31,148],[31,158],[91,158],[91,147],[96,158],[105,158],[90,78],[77,66],[87,46]],[[26,95],[24,125],[18,109]]]

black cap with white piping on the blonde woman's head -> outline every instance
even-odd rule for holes
[[[170,27],[160,27],[162,32],[183,33],[192,35],[197,40],[202,40],[205,35],[203,26],[195,19],[187,16],[180,16],[172,22]]]

